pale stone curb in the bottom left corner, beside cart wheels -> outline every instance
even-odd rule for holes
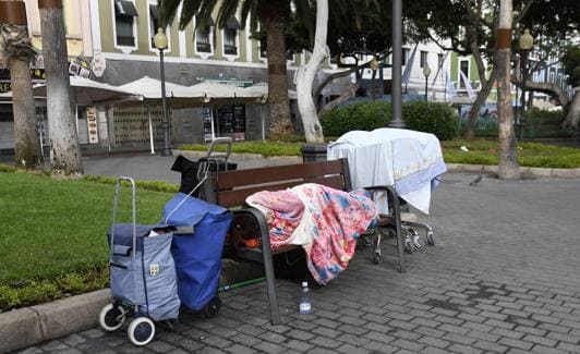
[[[109,289],[0,314],[0,353],[95,327]]]

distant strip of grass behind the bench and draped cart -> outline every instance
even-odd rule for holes
[[[239,142],[232,145],[232,152],[262,154],[270,156],[302,156],[300,142]],[[462,151],[467,146],[469,151]],[[208,145],[183,145],[184,150],[207,151]],[[479,139],[468,142],[456,139],[442,142],[444,159],[448,163],[497,164],[499,160],[499,144],[496,141]],[[580,168],[580,149],[564,148],[539,143],[518,143],[518,159],[523,167],[541,168]],[[225,151],[225,146],[217,146],[217,150]]]

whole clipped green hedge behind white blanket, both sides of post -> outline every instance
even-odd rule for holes
[[[351,105],[326,112],[321,118],[321,124],[326,136],[340,136],[350,131],[372,131],[385,127],[390,119],[390,102],[375,101]],[[456,111],[444,103],[404,102],[402,119],[407,129],[433,133],[440,141],[452,139],[459,131]]]

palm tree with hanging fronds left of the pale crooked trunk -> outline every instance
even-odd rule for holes
[[[291,14],[290,0],[222,0],[219,3],[217,25],[222,28],[228,20],[241,12],[241,25],[250,16],[251,32],[257,34],[257,24],[266,32],[268,51],[268,103],[270,137],[292,132],[288,102],[288,75],[286,68],[286,26]],[[294,1],[297,11],[307,9],[307,0]],[[218,7],[217,0],[160,0],[159,13],[162,24],[171,23],[182,4],[180,28],[196,16],[196,24],[204,23]]]

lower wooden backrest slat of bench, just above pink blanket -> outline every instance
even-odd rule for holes
[[[343,190],[345,188],[345,181],[341,175],[331,175],[331,176],[323,176],[323,178],[315,178],[315,179],[304,179],[304,180],[298,180],[292,182],[283,182],[283,183],[276,183],[276,184],[261,184],[257,186],[252,186],[247,188],[240,188],[240,190],[230,190],[230,191],[219,191],[218,193],[218,204],[226,208],[237,207],[240,205],[245,204],[245,198],[250,195],[262,192],[262,191],[283,191],[286,188],[293,187],[295,185],[304,184],[304,183],[317,183],[323,184],[326,186],[329,186],[335,190]],[[256,185],[256,184],[254,184]]]

